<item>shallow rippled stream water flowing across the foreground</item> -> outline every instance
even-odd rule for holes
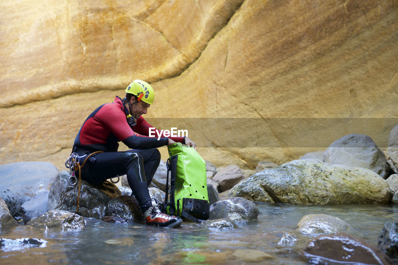
[[[258,220],[238,223],[237,229],[193,222],[164,229],[97,219],[86,219],[80,232],[20,225],[2,232],[0,264],[308,264],[301,251],[314,235],[296,232],[304,215],[339,217],[355,228],[354,236],[373,246],[384,223],[398,219],[395,205],[256,205]]]

